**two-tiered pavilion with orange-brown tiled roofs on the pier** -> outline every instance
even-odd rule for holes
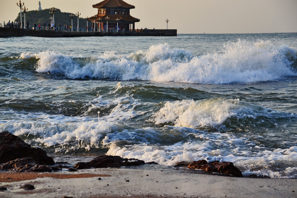
[[[130,15],[130,9],[134,9],[135,6],[123,0],[104,0],[98,4],[94,4],[93,8],[98,9],[97,15],[88,18],[89,21],[92,21],[93,27],[95,21],[95,27],[106,29],[108,22],[108,29],[120,28],[121,30],[134,31],[135,22],[140,21],[138,18],[134,18]],[[117,27],[117,22],[119,27]]]

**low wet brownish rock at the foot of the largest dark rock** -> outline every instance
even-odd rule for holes
[[[0,170],[13,172],[52,172],[61,170],[50,165],[40,165],[33,158],[19,158],[0,164]]]

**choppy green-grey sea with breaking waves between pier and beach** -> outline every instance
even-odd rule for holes
[[[60,158],[297,178],[297,33],[0,38],[0,131]]]

